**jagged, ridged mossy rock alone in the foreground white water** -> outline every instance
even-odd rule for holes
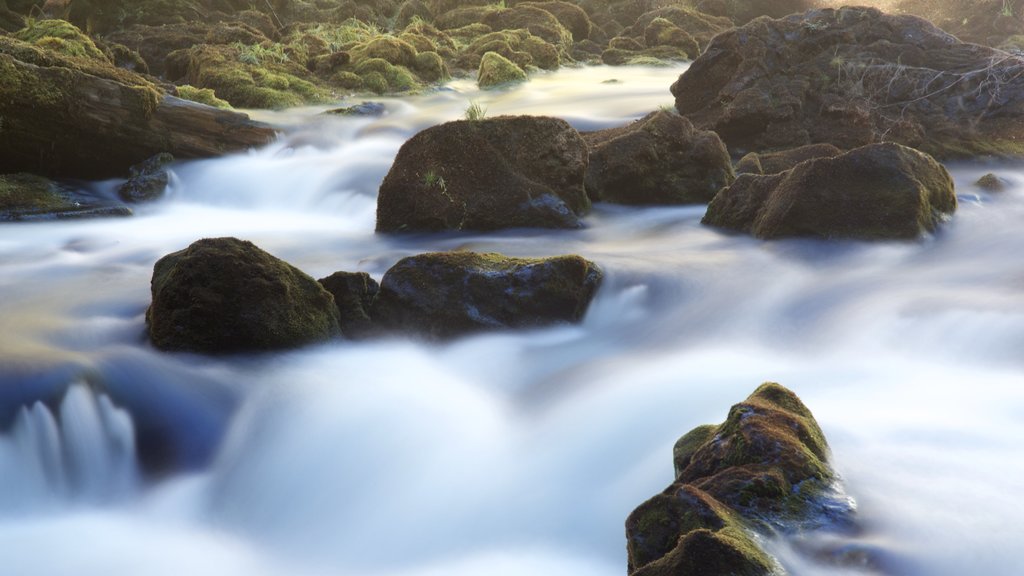
[[[676,480],[626,521],[633,576],[768,576],[777,563],[751,530],[848,525],[817,422],[791,390],[762,384],[725,422],[676,444]]]

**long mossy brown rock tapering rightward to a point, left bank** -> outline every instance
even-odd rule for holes
[[[268,142],[242,114],[164,94],[105,59],[0,36],[0,172],[104,178],[162,152],[209,157]]]

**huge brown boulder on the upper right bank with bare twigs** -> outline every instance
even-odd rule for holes
[[[720,34],[672,93],[737,155],[883,140],[936,157],[1024,153],[1024,59],[873,8],[759,18]]]

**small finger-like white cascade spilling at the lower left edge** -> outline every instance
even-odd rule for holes
[[[41,402],[22,408],[0,437],[0,510],[124,498],[138,485],[131,416],[76,382],[55,413]]]

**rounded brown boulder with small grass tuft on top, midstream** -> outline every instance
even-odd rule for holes
[[[579,228],[587,145],[556,118],[506,116],[427,128],[398,151],[378,232]]]

